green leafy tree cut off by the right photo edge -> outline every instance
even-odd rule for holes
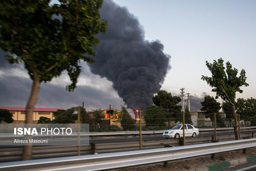
[[[251,125],[256,125],[256,99],[248,98],[247,100],[243,98],[238,98],[237,103],[237,113],[240,114],[241,120],[250,121]]]

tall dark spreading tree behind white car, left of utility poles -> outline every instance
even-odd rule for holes
[[[169,125],[171,120],[180,120],[181,117],[181,102],[179,96],[172,96],[165,90],[158,91],[158,95],[152,97],[152,100],[156,106],[163,107],[168,112],[167,117],[169,118]]]

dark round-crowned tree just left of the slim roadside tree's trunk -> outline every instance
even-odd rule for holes
[[[210,119],[214,122],[214,113],[216,114],[216,125],[218,127],[224,127],[224,121],[221,116],[218,114],[219,109],[221,109],[221,104],[215,100],[212,96],[205,96],[205,100],[201,102],[203,106],[201,111],[205,111],[205,115],[209,116]]]

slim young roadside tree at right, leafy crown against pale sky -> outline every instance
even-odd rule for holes
[[[226,62],[226,68],[223,64],[224,60],[219,58],[218,61],[214,60],[212,64],[206,61],[206,66],[212,73],[212,76],[202,75],[202,80],[205,80],[211,87],[213,92],[216,93],[215,98],[221,97],[223,100],[228,100],[232,105],[233,117],[235,118],[235,124],[233,125],[235,132],[235,140],[239,140],[239,134],[237,129],[237,114],[235,112],[235,93],[242,93],[241,87],[248,86],[246,83],[246,76],[244,69],[241,70],[239,76],[238,70],[230,62]]]

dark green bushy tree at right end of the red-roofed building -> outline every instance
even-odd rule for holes
[[[57,112],[53,113],[53,123],[75,123],[77,120],[77,114],[74,113],[74,107],[67,110],[58,110]]]

